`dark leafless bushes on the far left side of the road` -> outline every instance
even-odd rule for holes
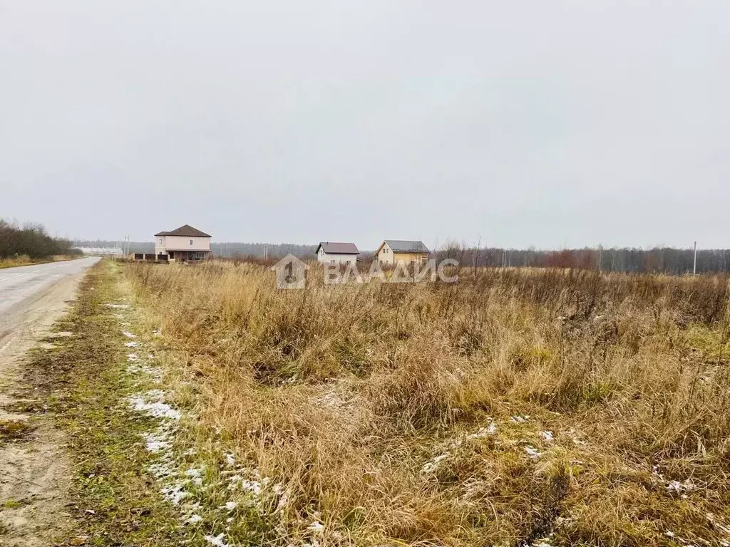
[[[20,226],[0,219],[0,258],[28,256],[47,258],[53,255],[75,255],[71,241],[54,238],[39,224]]]

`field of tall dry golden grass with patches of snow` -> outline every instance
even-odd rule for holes
[[[727,545],[727,279],[474,274],[126,266],[185,371],[180,442],[250,474],[207,493],[247,508],[228,543]]]

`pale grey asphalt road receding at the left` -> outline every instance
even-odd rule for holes
[[[98,257],[66,260],[0,270],[0,319],[16,304],[41,295],[68,276],[75,276],[99,261]],[[1,322],[1,321],[0,321]]]

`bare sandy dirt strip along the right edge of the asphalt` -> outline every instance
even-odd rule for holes
[[[68,276],[0,318],[0,545],[45,547],[69,528],[63,433],[37,413],[23,381],[28,350],[69,307],[84,273]],[[64,337],[60,337],[63,339]]]

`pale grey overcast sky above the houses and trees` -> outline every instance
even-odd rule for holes
[[[0,0],[0,217],[730,247],[730,2]]]

